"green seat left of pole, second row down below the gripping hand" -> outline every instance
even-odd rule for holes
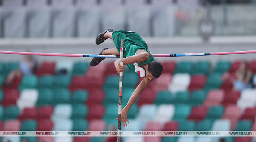
[[[115,88],[105,89],[105,100],[103,103],[104,104],[113,103],[117,105],[119,103],[119,89],[115,89]]]

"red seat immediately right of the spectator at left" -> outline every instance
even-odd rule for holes
[[[44,61],[41,66],[36,71],[38,76],[41,75],[53,75],[55,70],[55,62],[54,61]]]

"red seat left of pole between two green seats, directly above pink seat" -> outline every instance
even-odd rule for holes
[[[88,107],[87,120],[102,119],[105,114],[105,107],[102,104],[92,104]]]

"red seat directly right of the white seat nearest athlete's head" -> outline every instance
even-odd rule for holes
[[[206,83],[207,77],[206,75],[192,75],[191,82],[189,84],[189,91],[194,91],[197,89],[203,89]]]

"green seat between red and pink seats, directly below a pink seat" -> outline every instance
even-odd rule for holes
[[[206,119],[209,119],[209,120],[221,119],[223,113],[224,113],[224,107],[223,106],[211,106],[208,109]]]

